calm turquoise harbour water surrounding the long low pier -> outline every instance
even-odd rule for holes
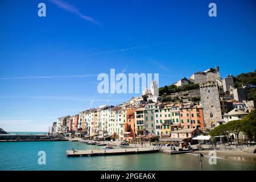
[[[79,142],[0,142],[0,170],[200,170],[197,156],[163,153],[68,158],[66,150],[101,148]],[[46,152],[46,165],[38,164],[38,152]],[[217,159],[203,162],[204,170],[256,170],[255,162]]]

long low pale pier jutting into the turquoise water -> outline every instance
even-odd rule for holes
[[[127,155],[127,154],[147,154],[159,152],[156,147],[147,148],[118,148],[110,150],[67,150],[67,156],[77,157],[77,156],[99,156],[99,155]]]

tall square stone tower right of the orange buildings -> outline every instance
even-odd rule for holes
[[[217,120],[222,119],[217,82],[201,83],[200,96],[201,104],[203,106],[205,127],[212,129],[217,126]]]

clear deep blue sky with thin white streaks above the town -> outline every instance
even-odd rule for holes
[[[48,131],[58,117],[137,95],[98,94],[110,68],[159,73],[160,86],[215,65],[222,77],[254,71],[255,20],[254,1],[2,0],[0,127]]]

